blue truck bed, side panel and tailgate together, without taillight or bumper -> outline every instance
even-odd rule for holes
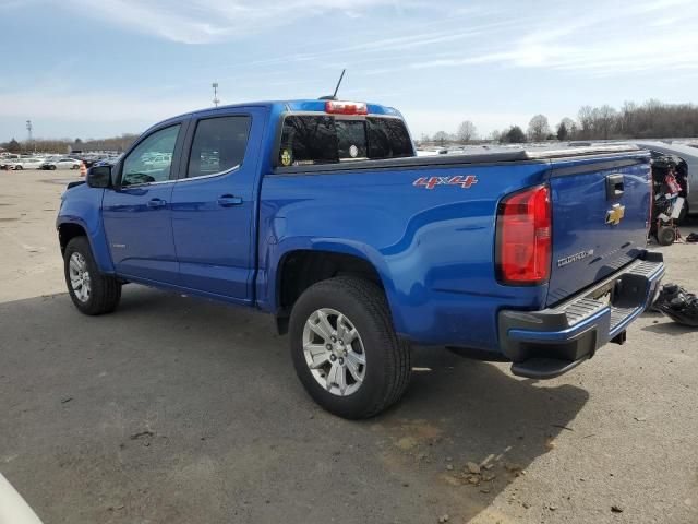
[[[273,309],[280,253],[340,251],[377,269],[400,335],[496,350],[500,309],[552,306],[637,258],[648,162],[635,146],[602,146],[278,167],[262,183],[258,305]],[[626,178],[628,219],[619,228],[605,224],[610,172]],[[454,177],[474,181],[454,186]],[[498,205],[540,184],[551,187],[554,215],[550,282],[503,285],[494,263]],[[597,254],[558,267],[582,251]]]

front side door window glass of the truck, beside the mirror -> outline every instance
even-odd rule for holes
[[[123,160],[121,186],[169,180],[179,128],[160,129],[141,142]]]

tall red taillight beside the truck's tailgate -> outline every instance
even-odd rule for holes
[[[497,277],[503,284],[546,282],[551,263],[551,209],[546,186],[506,196],[497,212]]]

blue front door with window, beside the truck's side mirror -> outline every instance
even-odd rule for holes
[[[103,219],[117,273],[177,284],[170,198],[177,179],[183,123],[168,124],[140,140],[117,166],[115,189],[105,191]],[[157,154],[170,162],[154,164]]]

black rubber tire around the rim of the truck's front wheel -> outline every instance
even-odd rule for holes
[[[89,273],[91,293],[85,301],[77,298],[70,281],[70,260],[75,252],[83,257]],[[110,313],[119,306],[121,284],[112,276],[99,273],[86,237],[75,237],[68,242],[63,253],[63,273],[70,298],[82,313],[93,315]]]

